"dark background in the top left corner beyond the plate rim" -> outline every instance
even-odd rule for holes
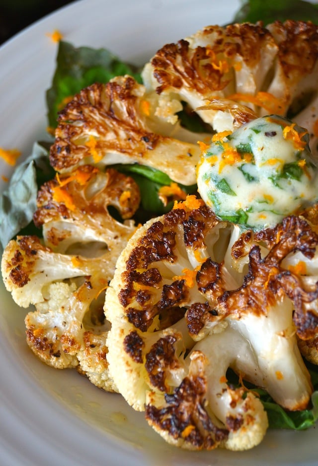
[[[0,0],[0,44],[37,19],[74,0]]]

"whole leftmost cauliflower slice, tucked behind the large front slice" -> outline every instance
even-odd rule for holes
[[[109,376],[103,305],[118,255],[135,230],[113,219],[134,214],[135,182],[115,170],[83,166],[68,178],[46,183],[38,194],[36,236],[11,240],[2,256],[2,277],[14,301],[36,310],[25,317],[27,343],[46,364],[76,367],[97,387],[116,390]]]

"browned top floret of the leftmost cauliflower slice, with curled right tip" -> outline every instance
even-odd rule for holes
[[[112,168],[102,172],[83,165],[42,186],[33,218],[35,225],[43,228],[45,244],[54,251],[96,255],[108,248],[112,269],[113,260],[135,227],[132,220],[124,224],[115,221],[108,208],[129,219],[139,203],[139,188],[131,177]]]

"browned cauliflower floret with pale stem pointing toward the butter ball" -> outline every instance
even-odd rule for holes
[[[60,112],[50,162],[59,172],[81,164],[99,167],[114,163],[140,163],[166,173],[184,185],[196,182],[198,136],[181,129],[174,117],[160,120],[156,93],[129,76],[107,84],[93,84]],[[170,99],[171,100],[171,99]],[[180,111],[177,102],[164,104]],[[178,139],[180,137],[180,139]]]

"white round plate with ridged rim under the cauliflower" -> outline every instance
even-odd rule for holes
[[[51,14],[0,48],[0,147],[27,156],[46,138],[45,90],[55,69],[59,29],[77,46],[106,47],[143,64],[164,43],[233,18],[239,0],[82,0]],[[12,169],[0,161],[0,174]],[[5,183],[0,181],[0,189]],[[74,370],[39,362],[24,338],[25,311],[0,289],[1,466],[317,465],[317,431],[269,431],[242,453],[170,447],[117,394]]]

